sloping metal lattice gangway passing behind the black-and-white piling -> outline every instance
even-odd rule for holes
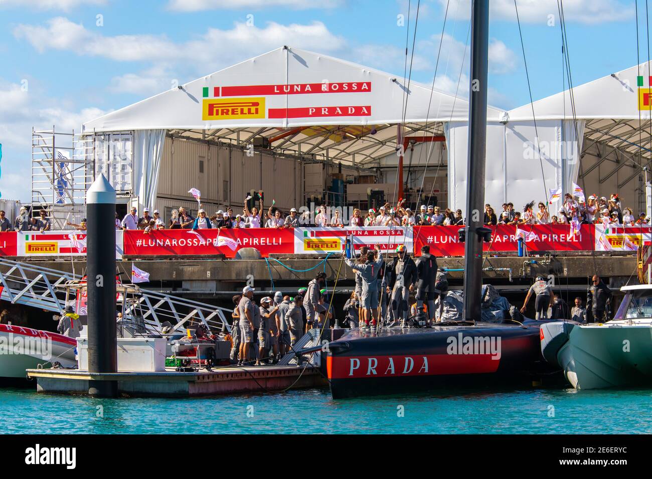
[[[75,300],[74,295],[70,299],[70,292],[76,293],[84,287],[83,284],[83,277],[78,274],[0,258],[0,299],[12,304],[61,313]],[[213,333],[231,332],[227,320],[231,317],[231,310],[227,308],[135,285],[121,285],[117,291],[120,293],[117,305],[121,308],[122,321],[133,325],[144,323],[148,334],[162,334],[166,323],[171,326],[166,328],[167,335],[197,323],[205,324]]]

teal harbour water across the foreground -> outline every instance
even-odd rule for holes
[[[652,433],[652,390],[94,399],[0,390],[1,433]],[[7,420],[20,418],[20,420]]]

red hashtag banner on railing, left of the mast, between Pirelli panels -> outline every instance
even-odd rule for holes
[[[241,248],[261,255],[294,254],[294,232],[285,228],[157,229],[125,231],[125,254],[132,256],[224,254],[235,257]]]

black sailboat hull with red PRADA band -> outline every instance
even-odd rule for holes
[[[334,399],[439,388],[531,386],[545,368],[540,322],[430,329],[352,330],[329,343]]]

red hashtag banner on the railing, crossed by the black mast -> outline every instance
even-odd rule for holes
[[[492,241],[484,243],[484,251],[518,252],[516,226],[491,226]],[[413,245],[415,255],[421,246],[430,246],[436,256],[464,256],[464,243],[458,239],[460,226],[415,226]],[[595,248],[595,225],[582,225],[580,231],[571,233],[569,225],[519,225],[526,239],[527,250],[542,251],[592,251]]]

